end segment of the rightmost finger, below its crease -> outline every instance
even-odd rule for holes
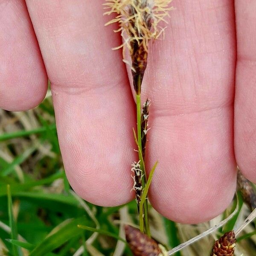
[[[243,175],[256,183],[256,67],[245,57],[237,62],[234,116],[234,150]]]

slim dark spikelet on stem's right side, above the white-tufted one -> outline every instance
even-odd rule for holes
[[[143,160],[145,162],[145,148],[146,148],[146,142],[147,142],[147,132],[150,128],[148,128],[148,108],[150,105],[149,99],[147,99],[142,108],[141,112],[141,145],[142,145],[142,156]]]

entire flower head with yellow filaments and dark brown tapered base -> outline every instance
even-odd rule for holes
[[[169,16],[168,11],[172,9],[169,3],[172,0],[106,0],[105,15],[116,13],[116,17],[105,25],[118,23],[119,29],[114,32],[121,32],[123,44],[113,48],[125,46],[131,55],[131,70],[133,75],[134,90],[140,94],[140,87],[147,67],[148,41],[157,39],[164,28],[160,28],[159,22],[166,22],[165,17]],[[127,62],[124,60],[124,62]]]

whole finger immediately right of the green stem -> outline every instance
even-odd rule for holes
[[[236,41],[229,0],[174,1],[162,41],[149,49],[151,203],[179,222],[207,221],[233,198]]]

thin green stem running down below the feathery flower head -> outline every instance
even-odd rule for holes
[[[140,78],[138,79],[138,83],[140,83]],[[138,85],[140,87],[140,84]],[[145,166],[143,162],[143,156],[141,154],[142,152],[142,144],[141,144],[141,111],[140,111],[140,94],[136,94],[136,106],[137,106],[137,138],[138,138],[138,154],[139,154],[139,159],[140,159],[140,166],[141,170],[143,172],[143,178],[142,178],[142,187],[143,189],[145,188],[145,183],[146,183],[146,174],[145,174]],[[143,204],[143,212],[139,212],[140,215],[144,213],[144,223],[140,223],[140,231],[143,233],[146,233],[148,237],[151,237],[150,235],[150,229],[149,229],[149,224],[148,224],[148,200],[145,201]],[[141,218],[140,218],[141,219]]]

